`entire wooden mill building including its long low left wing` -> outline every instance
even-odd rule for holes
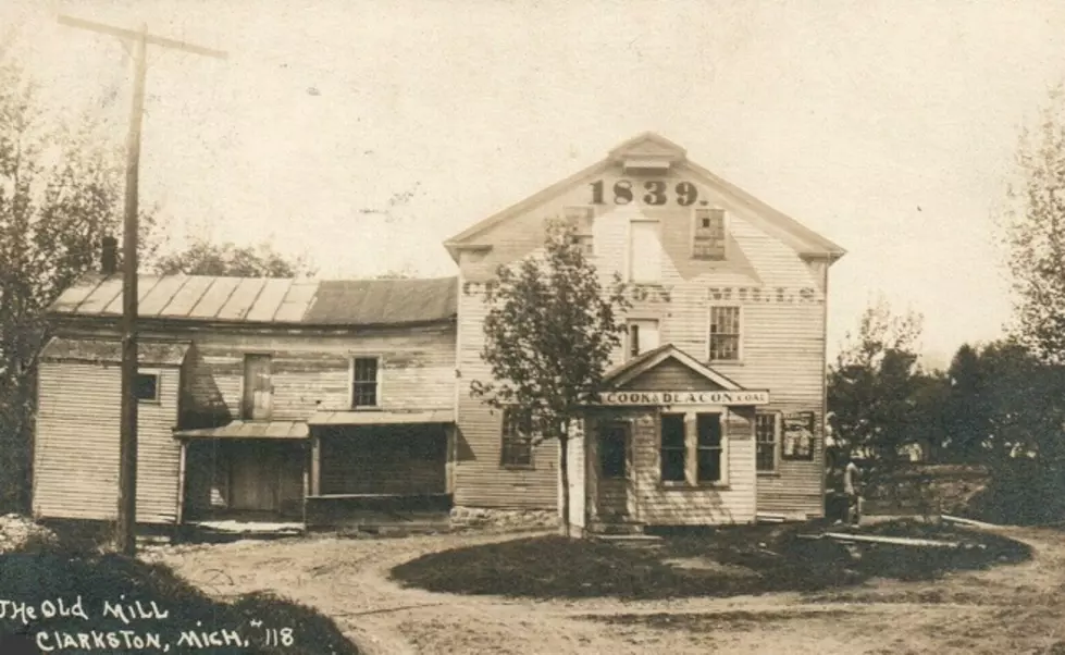
[[[371,506],[558,507],[557,444],[470,395],[484,285],[577,228],[628,286],[624,345],[571,440],[580,530],[823,515],[829,268],[843,250],[654,134],[445,243],[457,277],[140,280],[138,521],[334,523]],[[113,258],[111,258],[113,260]],[[34,510],[116,511],[121,279],[52,307]]]

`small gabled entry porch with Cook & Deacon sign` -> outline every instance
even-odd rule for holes
[[[584,421],[583,528],[634,533],[754,517],[755,406],[747,390],[672,345],[607,373]]]

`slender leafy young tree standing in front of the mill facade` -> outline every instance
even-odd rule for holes
[[[604,288],[572,230],[560,221],[548,221],[542,257],[499,267],[486,285],[481,358],[492,381],[473,381],[471,392],[490,407],[512,412],[534,443],[558,441],[566,535],[569,440],[602,391],[624,331],[621,314],[629,304],[619,276],[611,286]]]

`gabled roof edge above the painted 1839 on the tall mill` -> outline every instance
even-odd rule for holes
[[[692,163],[688,159],[686,151],[665,138],[661,135],[645,132],[622,144],[618,145],[602,161],[578,171],[573,175],[548,186],[547,188],[525,198],[524,200],[497,212],[483,221],[475,223],[467,230],[444,242],[451,258],[458,260],[458,251],[462,248],[483,247],[484,244],[476,242],[475,237],[486,232],[491,227],[520,215],[562,191],[580,184],[585,178],[599,174],[618,162],[624,162],[629,158],[635,159],[661,159],[666,158],[671,163],[676,163],[679,170],[689,170],[703,180],[704,183],[714,187],[718,193],[730,197],[733,201],[748,207],[752,212],[763,218],[761,223],[771,233],[789,243],[795,250],[804,257],[817,257],[835,260],[846,254],[839,245],[809,230],[798,221],[773,209],[761,200],[758,200],[747,191],[731,184],[723,178],[715,175],[708,170]]]

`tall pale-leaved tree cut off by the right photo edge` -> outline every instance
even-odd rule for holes
[[[1065,362],[1065,88],[1058,86],[1017,151],[1019,181],[1000,217],[1015,292],[1014,336]]]

